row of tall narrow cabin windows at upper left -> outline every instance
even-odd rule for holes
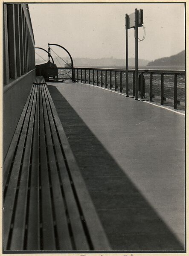
[[[35,68],[35,48],[23,4],[4,4],[4,84]],[[26,8],[26,5],[24,5]]]

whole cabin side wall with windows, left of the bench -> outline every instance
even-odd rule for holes
[[[3,157],[35,79],[35,41],[27,4],[3,4]]]

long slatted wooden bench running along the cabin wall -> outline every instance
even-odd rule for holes
[[[20,116],[3,189],[4,250],[111,250],[43,77]]]

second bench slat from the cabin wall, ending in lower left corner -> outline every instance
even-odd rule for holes
[[[17,192],[17,185],[19,184],[18,178],[20,174],[23,148],[24,148],[24,143],[26,139],[26,131],[29,123],[29,115],[31,112],[33,97],[34,97],[34,90],[32,90],[32,100],[30,100],[29,102],[29,108],[26,113],[26,118],[23,124],[23,130],[20,136],[20,141],[18,144],[16,156],[15,156],[15,163],[12,168],[12,172],[9,180],[9,186],[7,187],[6,198],[4,200],[4,216],[6,216],[5,218],[3,218],[5,248],[8,245],[9,230],[11,229],[12,216],[14,215],[14,204],[15,204],[15,198],[16,198],[16,192]]]

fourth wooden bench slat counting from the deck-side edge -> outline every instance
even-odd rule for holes
[[[47,152],[44,130],[43,102],[40,88],[40,171],[41,171],[41,210],[43,229],[43,250],[55,250],[54,224],[49,187]]]

